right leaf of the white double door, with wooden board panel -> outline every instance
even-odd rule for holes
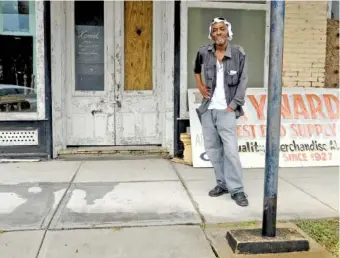
[[[154,53],[162,47],[157,45],[154,33],[155,24],[160,23],[154,20],[156,11],[154,2],[115,2],[117,145],[162,143],[160,82],[154,73],[160,67]]]

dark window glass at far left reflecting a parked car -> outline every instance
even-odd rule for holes
[[[0,2],[0,112],[36,112],[35,1]]]

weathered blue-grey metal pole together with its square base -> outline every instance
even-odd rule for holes
[[[271,1],[270,58],[267,104],[266,166],[262,230],[232,229],[228,244],[237,254],[273,254],[310,250],[308,239],[294,228],[276,229],[277,185],[280,158],[282,56],[285,1]],[[280,237],[276,237],[276,234]]]

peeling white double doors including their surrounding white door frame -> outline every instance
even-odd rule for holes
[[[174,3],[52,1],[53,153],[172,149]]]

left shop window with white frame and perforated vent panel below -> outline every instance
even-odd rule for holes
[[[48,7],[0,2],[0,157],[51,157]]]

